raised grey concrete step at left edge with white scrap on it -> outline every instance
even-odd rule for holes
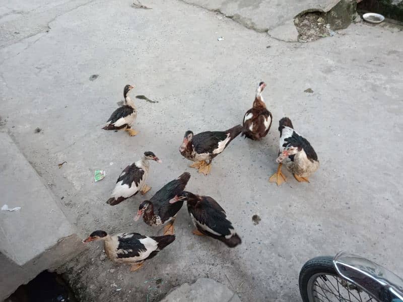
[[[0,132],[0,301],[82,251],[74,226],[6,132]]]

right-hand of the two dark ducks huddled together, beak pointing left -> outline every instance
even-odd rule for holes
[[[224,242],[234,248],[241,243],[231,221],[227,219],[224,209],[210,196],[200,196],[183,191],[170,203],[187,201],[187,210],[196,229],[195,235],[206,235]]]

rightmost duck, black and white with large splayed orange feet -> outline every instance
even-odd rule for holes
[[[270,177],[271,182],[280,186],[287,180],[281,171],[285,163],[287,169],[294,174],[299,182],[309,182],[308,177],[319,168],[319,161],[315,150],[309,141],[294,130],[294,126],[288,117],[280,120],[279,163],[277,173]]]

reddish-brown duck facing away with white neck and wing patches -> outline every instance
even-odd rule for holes
[[[243,117],[242,135],[253,140],[260,140],[266,136],[272,125],[272,113],[266,109],[266,104],[261,96],[265,87],[264,82],[259,83],[252,108],[246,111]]]

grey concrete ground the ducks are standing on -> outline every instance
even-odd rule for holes
[[[181,1],[143,4],[152,10],[133,9],[130,0],[21,1],[16,8],[2,1],[2,127],[83,238],[99,229],[161,233],[132,221],[143,196],[105,204],[119,172],[152,150],[163,164],[151,163],[146,197],[189,171],[187,189],[226,209],[242,245],[193,236],[183,208],[174,244],[138,272],[104,259],[97,243],[63,267],[81,300],[158,300],[209,277],[243,301],[295,301],[303,263],[340,250],[403,276],[401,29],[360,23],[316,42],[287,43]],[[99,77],[91,81],[93,74]],[[260,81],[275,120],[266,138],[235,139],[207,177],[188,168],[178,152],[184,132],[240,123]],[[136,86],[133,96],[158,101],[136,99],[136,137],[101,129],[125,84]],[[321,167],[309,184],[290,175],[281,187],[267,181],[285,115],[318,154]],[[97,169],[107,176],[95,183]],[[160,288],[150,285],[156,278]]]

